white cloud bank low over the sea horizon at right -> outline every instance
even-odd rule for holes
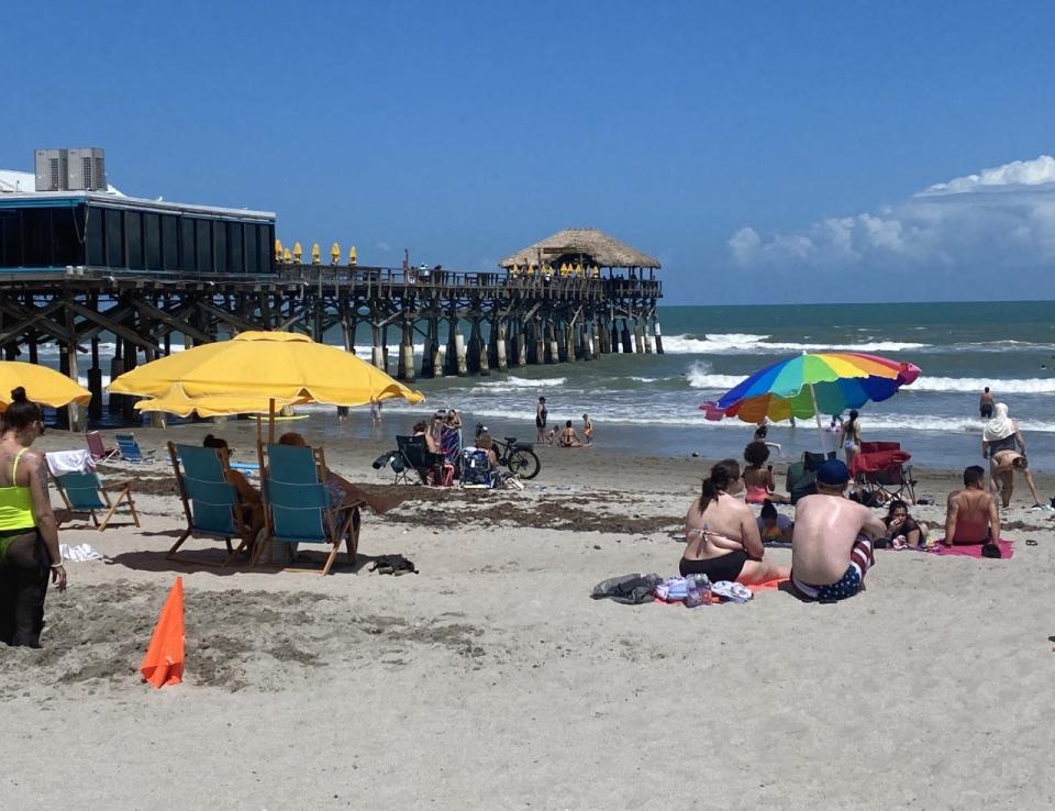
[[[1032,267],[1055,260],[1055,158],[1015,160],[935,184],[893,205],[807,229],[728,241],[742,267]]]

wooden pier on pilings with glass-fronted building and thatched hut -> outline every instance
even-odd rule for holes
[[[301,264],[273,213],[103,191],[102,164],[85,164],[101,188],[68,189],[65,165],[48,174],[47,159],[38,153],[36,186],[55,188],[0,193],[0,352],[37,363],[56,346],[60,370],[87,377],[88,416],[102,414],[104,374],[247,330],[368,344],[374,365],[408,382],[663,352],[659,263],[593,229],[554,234],[496,271],[367,267],[354,248],[340,265],[336,245],[330,265],[318,246]],[[129,420],[132,407],[107,402]],[[76,406],[69,416],[85,424]]]

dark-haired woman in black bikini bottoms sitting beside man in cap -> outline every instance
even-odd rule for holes
[[[700,497],[685,516],[685,554],[681,576],[702,574],[711,582],[735,580],[745,585],[777,580],[788,569],[763,559],[766,551],[754,513],[729,489],[740,480],[735,459],[720,462],[703,479]]]

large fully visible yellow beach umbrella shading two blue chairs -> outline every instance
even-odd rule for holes
[[[355,355],[291,332],[243,332],[231,341],[202,344],[137,366],[109,390],[152,398],[136,403],[141,411],[212,416],[274,416],[278,408],[302,402],[351,407],[424,399]]]

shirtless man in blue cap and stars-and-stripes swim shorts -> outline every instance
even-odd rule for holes
[[[817,470],[817,495],[799,500],[791,534],[791,582],[824,602],[853,597],[875,564],[873,541],[886,526],[867,507],[843,496],[849,468],[829,459]]]

